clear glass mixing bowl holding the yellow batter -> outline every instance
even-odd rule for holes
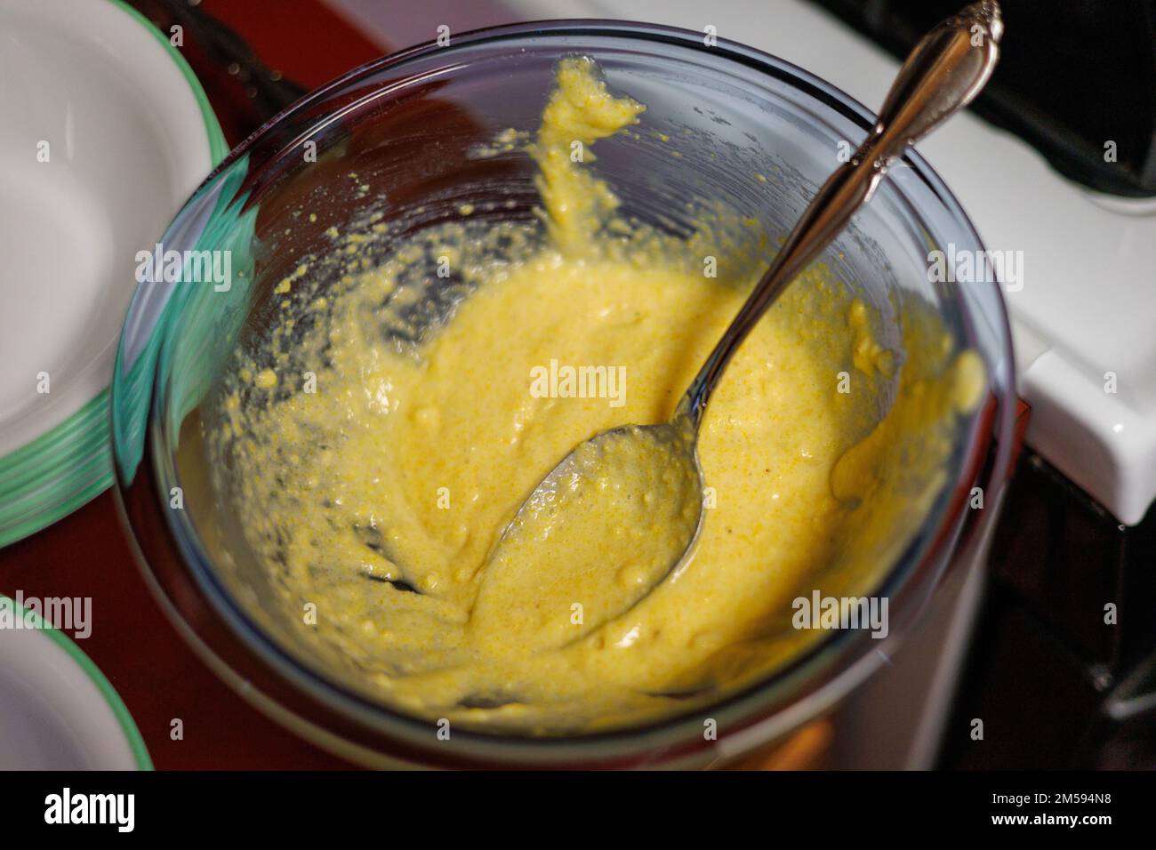
[[[868,208],[824,256],[880,308],[896,341],[896,300],[929,304],[957,347],[978,352],[987,394],[959,417],[948,483],[874,590],[890,636],[831,631],[785,667],[692,711],[617,731],[563,737],[454,729],[449,739],[327,668],[269,615],[267,583],[209,483],[201,406],[228,356],[267,320],[273,289],[331,227],[369,209],[413,232],[477,215],[532,221],[534,169],[514,146],[477,157],[505,128],[533,131],[556,62],[598,60],[610,87],[646,104],[643,127],[599,143],[596,172],[622,209],[679,232],[688,198],[722,199],[785,235],[874,116],[822,80],[765,53],[702,34],[624,22],[561,21],[455,36],[366,65],[309,95],[243,142],[165,232],[165,251],[230,258],[231,279],[142,283],[112,390],[118,493],[147,581],[201,657],[274,719],[351,760],[430,767],[704,766],[775,741],[868,677],[990,522],[1008,474],[1014,413],[1007,316],[996,282],[934,283],[928,253],[983,244],[918,154],[891,170]],[[651,132],[652,131],[652,132]],[[658,136],[664,136],[658,141]],[[755,182],[751,173],[766,179]],[[354,177],[350,177],[354,175]],[[492,201],[499,198],[501,204]],[[186,275],[186,278],[195,275]],[[325,286],[325,281],[320,282]],[[449,288],[451,284],[447,283]],[[429,303],[438,309],[439,294]],[[446,295],[445,301],[452,301]],[[881,401],[883,404],[883,401]],[[704,736],[704,718],[717,737]]]

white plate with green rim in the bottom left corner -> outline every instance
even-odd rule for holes
[[[39,628],[0,627],[0,770],[151,770],[109,680],[64,633],[34,619]]]

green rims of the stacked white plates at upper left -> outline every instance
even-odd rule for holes
[[[229,146],[193,69],[164,34],[123,0],[108,0],[150,32],[180,69],[205,121],[215,168]],[[112,485],[109,390],[81,409],[0,457],[0,547],[34,534],[98,496]]]

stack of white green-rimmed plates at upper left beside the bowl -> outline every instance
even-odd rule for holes
[[[92,457],[106,442],[65,460],[67,445],[108,430],[91,406],[112,376],[136,252],[151,250],[224,153],[187,64],[134,10],[0,3],[0,545],[75,508],[79,471],[89,496],[108,485],[106,457]],[[83,429],[69,431],[86,408]],[[60,444],[37,444],[42,480],[5,465],[55,428]]]

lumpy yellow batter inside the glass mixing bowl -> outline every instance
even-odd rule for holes
[[[312,301],[305,331],[299,317],[275,328],[222,396],[209,436],[232,476],[217,486],[284,601],[282,621],[392,705],[563,733],[716,699],[815,640],[788,627],[800,592],[870,592],[946,480],[955,412],[978,400],[981,362],[953,360],[950,340],[913,311],[904,341],[933,354],[901,364],[874,341],[873,310],[815,266],[755,327],[706,413],[706,510],[684,569],[625,614],[599,616],[606,594],[646,582],[645,541],[695,508],[661,480],[643,482],[650,501],[623,508],[610,535],[560,496],[550,522],[513,529],[517,545],[491,562],[571,449],[670,416],[744,300],[749,275],[705,276],[701,246],[617,220],[613,191],[588,170],[590,148],[642,113],[591,60],[564,60],[529,147],[544,237],[415,237]],[[498,244],[506,254],[487,261]],[[385,331],[420,301],[410,272],[429,256],[469,269],[470,291],[401,345]],[[624,368],[623,404],[532,393],[551,361]],[[888,382],[896,400],[880,422]],[[606,460],[605,486],[638,486]],[[536,567],[560,549],[572,561],[543,582]]]

